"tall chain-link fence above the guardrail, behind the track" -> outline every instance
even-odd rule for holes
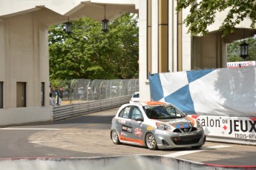
[[[58,105],[65,105],[133,95],[134,92],[139,92],[138,79],[73,79],[63,81],[62,86],[52,93],[56,96]]]

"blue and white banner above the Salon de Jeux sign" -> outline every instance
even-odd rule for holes
[[[152,101],[188,114],[255,116],[256,67],[200,69],[149,75]]]

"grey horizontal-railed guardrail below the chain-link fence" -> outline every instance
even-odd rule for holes
[[[85,115],[91,112],[99,112],[106,109],[119,107],[128,103],[131,95],[125,95],[119,98],[108,98],[99,101],[86,101],[83,103],[68,104],[65,106],[53,107],[53,120],[62,120],[79,115]]]

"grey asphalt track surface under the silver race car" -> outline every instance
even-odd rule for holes
[[[209,165],[256,169],[256,146],[207,141],[200,149],[151,151],[139,146],[114,145],[110,129],[116,111],[117,108],[66,120],[0,128],[0,159],[146,154],[177,157]]]

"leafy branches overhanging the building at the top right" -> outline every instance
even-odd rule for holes
[[[252,19],[251,27],[255,28],[256,23],[256,2],[255,0],[180,0],[177,4],[177,11],[190,7],[190,14],[184,20],[189,33],[205,35],[209,32],[207,27],[214,23],[217,12],[229,8],[229,13],[224,19],[219,30],[223,36],[234,32],[234,27],[243,21],[246,16]]]

